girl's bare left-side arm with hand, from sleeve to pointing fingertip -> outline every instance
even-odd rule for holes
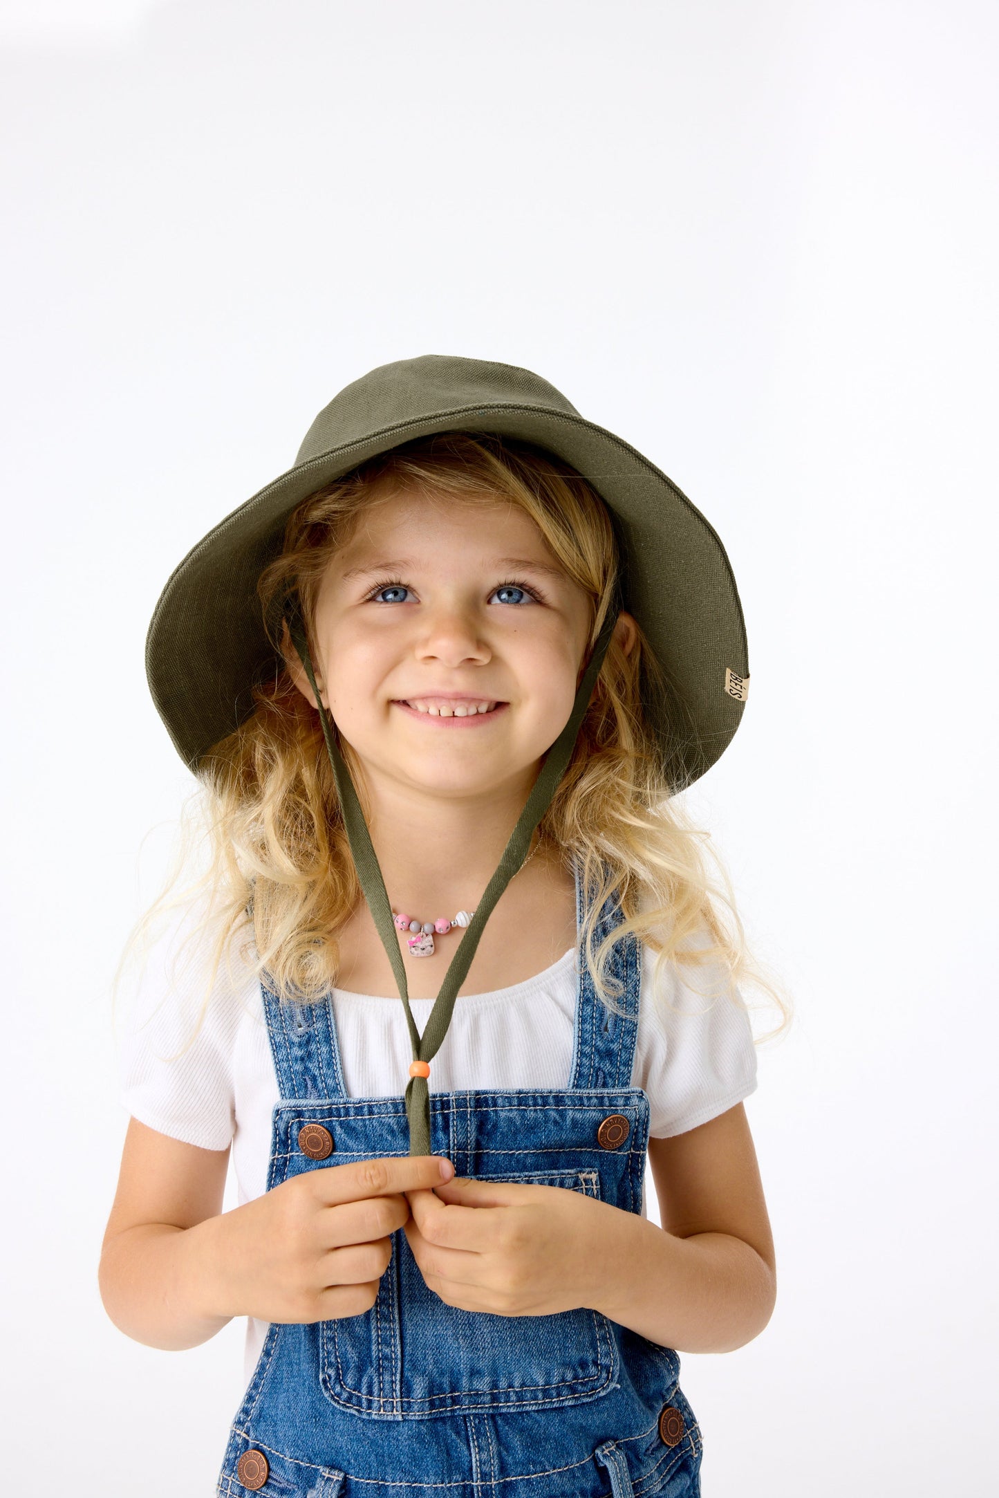
[[[234,1315],[312,1323],[370,1311],[409,1216],[404,1191],[442,1179],[436,1155],[358,1159],[289,1176],[219,1215],[228,1156],[129,1124],[99,1282],[105,1311],[136,1342],[175,1351]]]

